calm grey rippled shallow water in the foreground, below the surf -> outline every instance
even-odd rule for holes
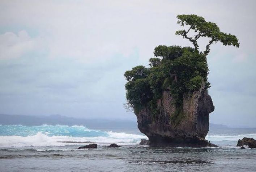
[[[255,149],[152,148],[129,145],[121,148],[0,149],[2,171],[26,172],[139,172],[139,171],[254,171]]]

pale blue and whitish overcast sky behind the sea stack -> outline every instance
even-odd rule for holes
[[[123,107],[126,70],[148,65],[196,14],[236,35],[208,55],[210,123],[256,127],[254,0],[1,0],[0,113],[136,120]],[[199,41],[203,50],[206,40]]]

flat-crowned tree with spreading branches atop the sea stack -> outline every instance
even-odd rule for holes
[[[176,31],[176,35],[181,35],[183,38],[188,39],[191,41],[195,47],[195,50],[198,51],[198,44],[197,40],[200,37],[209,37],[211,40],[209,41],[209,44],[205,46],[204,54],[207,55],[210,52],[210,45],[213,44],[213,42],[222,42],[223,45],[233,45],[236,47],[239,47],[239,42],[236,36],[226,33],[223,33],[219,30],[219,27],[216,23],[213,22],[206,22],[203,17],[197,16],[195,14],[191,15],[178,15],[177,18],[178,24],[180,26],[189,25],[190,28],[185,30],[179,30]],[[194,30],[197,35],[193,37],[188,37],[187,34],[190,30]]]

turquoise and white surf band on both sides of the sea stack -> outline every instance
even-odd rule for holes
[[[209,132],[205,139],[213,144],[225,147],[236,146],[238,139],[243,139],[243,137],[256,139],[256,129],[213,130]],[[148,139],[148,137],[142,133],[137,133],[136,130],[129,130],[129,128],[125,132],[116,132],[115,130],[91,130],[85,126],[0,126],[0,147],[69,146],[89,142],[97,143],[100,146],[111,143],[134,145],[138,144],[141,139]]]

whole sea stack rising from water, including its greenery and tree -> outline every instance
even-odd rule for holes
[[[180,26],[176,35],[188,39],[194,47],[158,45],[149,67],[138,65],[126,71],[124,77],[127,107],[138,119],[138,128],[149,138],[151,146],[214,146],[205,140],[209,131],[209,113],[214,111],[208,94],[210,45],[239,47],[235,35],[220,31],[216,23],[206,22],[197,15],[178,15]],[[195,35],[190,37],[188,32]],[[193,32],[192,31],[192,32]],[[204,51],[199,51],[198,39],[209,37]]]

